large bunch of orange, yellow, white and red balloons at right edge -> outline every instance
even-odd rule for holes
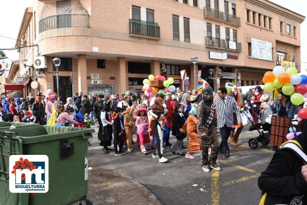
[[[289,67],[285,70],[278,65],[274,67],[273,72],[265,73],[262,82],[265,84],[266,93],[270,94],[275,90],[276,94],[277,90],[281,88],[284,95],[291,96],[291,102],[294,105],[302,104],[304,97],[307,98],[307,76],[298,74],[295,67]]]

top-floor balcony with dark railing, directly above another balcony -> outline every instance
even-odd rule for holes
[[[210,7],[204,7],[204,18],[225,22],[225,24],[230,24],[236,27],[241,26],[240,17]]]

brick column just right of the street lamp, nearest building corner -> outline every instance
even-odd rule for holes
[[[78,55],[78,92],[87,95],[86,55]]]

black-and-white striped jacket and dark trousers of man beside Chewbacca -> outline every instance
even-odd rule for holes
[[[236,113],[237,122],[238,124],[241,124],[242,119],[240,116],[240,110],[235,99],[228,95],[224,99],[220,97],[215,98],[213,106],[217,111],[217,126],[220,128],[222,135],[220,148],[224,152],[229,152],[227,141],[233,126],[233,113]]]

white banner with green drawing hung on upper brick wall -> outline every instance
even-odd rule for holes
[[[261,60],[272,60],[272,43],[252,38],[252,57]]]

